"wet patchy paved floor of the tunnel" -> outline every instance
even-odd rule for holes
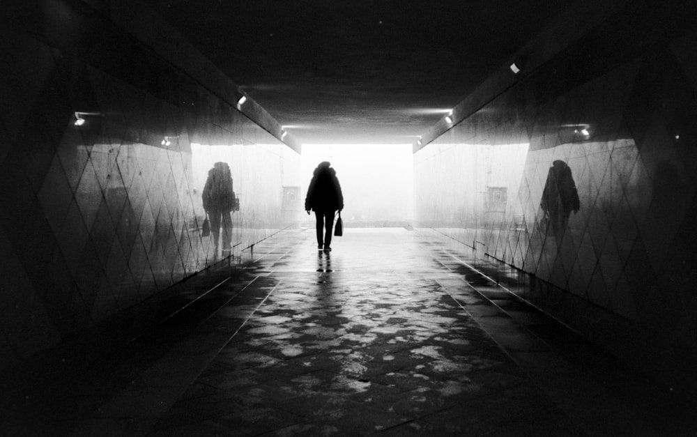
[[[158,303],[166,316],[94,365],[43,394],[15,386],[2,429],[697,435],[694,406],[521,304],[435,233],[348,228],[332,248],[297,231],[232,276],[187,281]]]

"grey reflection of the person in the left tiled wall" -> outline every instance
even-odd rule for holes
[[[237,199],[232,190],[232,176],[230,167],[225,162],[216,162],[213,168],[208,170],[208,179],[204,185],[203,193],[204,210],[208,213],[210,228],[213,231],[213,243],[215,244],[215,256],[218,253],[218,240],[222,226],[222,255],[231,254],[230,242],[232,240],[232,218],[230,212],[236,210]]]

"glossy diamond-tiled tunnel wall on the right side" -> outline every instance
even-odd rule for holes
[[[620,10],[415,153],[415,183],[422,225],[530,274],[524,298],[694,390],[697,14],[685,5]],[[557,228],[541,207],[555,160],[580,200]]]

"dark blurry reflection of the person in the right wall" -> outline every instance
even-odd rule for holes
[[[579,192],[576,191],[576,183],[566,162],[552,162],[539,206],[549,218],[554,236],[561,238],[572,210],[575,214],[581,208]]]

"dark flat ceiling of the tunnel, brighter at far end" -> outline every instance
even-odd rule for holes
[[[301,143],[411,143],[572,1],[145,0]]]

